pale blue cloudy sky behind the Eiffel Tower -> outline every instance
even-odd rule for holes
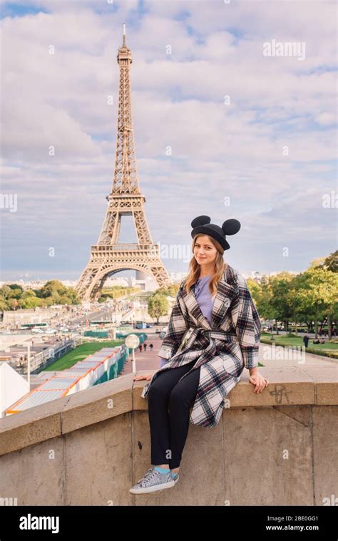
[[[1,279],[78,279],[88,262],[113,179],[123,22],[140,190],[168,272],[187,271],[170,247],[190,257],[198,215],[240,220],[225,260],[242,274],[337,249],[335,1],[0,6]],[[120,240],[135,242],[128,217]]]

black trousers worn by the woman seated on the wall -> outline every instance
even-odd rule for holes
[[[200,367],[183,381],[178,380],[195,364],[158,373],[148,393],[151,464],[178,468],[188,436],[190,408],[195,402],[200,381]]]

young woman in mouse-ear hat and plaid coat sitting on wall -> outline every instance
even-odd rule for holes
[[[135,376],[150,380],[148,398],[152,467],[130,488],[152,493],[175,485],[183,448],[192,424],[216,426],[225,397],[250,372],[253,392],[268,380],[258,371],[260,317],[245,278],[223,259],[230,248],[226,235],[240,230],[238,220],[222,227],[209,216],[191,222],[193,258],[173,306],[168,332],[160,347],[160,368]]]

